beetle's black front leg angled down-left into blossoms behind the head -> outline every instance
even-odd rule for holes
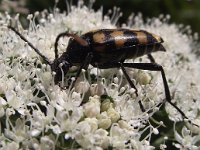
[[[87,70],[87,68],[88,68],[88,66],[89,66],[92,58],[93,58],[93,54],[91,52],[88,53],[87,56],[86,56],[86,58],[85,58],[85,60],[83,61],[83,64],[80,66],[80,68],[78,69],[78,71],[76,73],[75,80],[73,81],[71,88],[74,87],[74,85],[76,83],[76,80],[78,79],[78,77],[81,74],[82,69]]]

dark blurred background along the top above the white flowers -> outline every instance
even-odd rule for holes
[[[68,0],[70,1],[70,0]],[[78,0],[71,0],[75,5]],[[89,0],[84,0],[88,4]],[[21,14],[34,13],[44,9],[52,9],[54,0],[10,0],[15,3],[10,8],[5,8],[5,3],[0,0],[0,10],[7,10],[10,13],[20,12]],[[8,4],[7,4],[8,5]],[[145,17],[157,17],[160,14],[169,14],[171,22],[190,25],[193,32],[200,33],[200,0],[96,0],[93,5],[95,10],[103,6],[104,14],[114,6],[120,7],[123,16],[119,22],[126,22],[128,16],[134,12],[141,12]],[[7,6],[9,7],[9,6]],[[66,10],[65,0],[60,0],[58,7]]]

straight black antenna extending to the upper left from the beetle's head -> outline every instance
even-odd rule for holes
[[[33,46],[33,44],[31,44],[31,42],[29,42],[21,33],[19,33],[15,28],[13,28],[12,26],[8,26],[9,29],[11,29],[12,31],[14,31],[23,41],[25,41],[38,55],[40,55],[40,57],[42,57],[42,59],[44,60],[44,62],[48,65],[51,66],[51,62],[49,61],[49,59],[44,56],[35,46]]]

